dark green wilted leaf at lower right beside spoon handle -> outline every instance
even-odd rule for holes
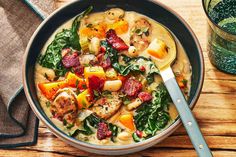
[[[138,130],[144,131],[146,138],[154,136],[158,130],[163,129],[169,122],[168,104],[171,102],[169,93],[160,84],[153,92],[153,101],[144,103],[136,110],[134,121]],[[133,135],[134,137],[134,135]],[[137,141],[137,139],[134,139]]]

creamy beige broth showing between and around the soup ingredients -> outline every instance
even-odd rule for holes
[[[164,41],[167,46],[171,49],[171,47],[173,46],[172,42],[171,42],[171,38],[169,38],[169,36],[166,35],[166,31],[163,30],[162,28],[159,27],[159,25],[156,24],[156,21],[143,16],[141,14],[138,14],[136,12],[126,12],[125,13],[125,17],[124,19],[126,21],[128,21],[129,26],[132,26],[134,24],[134,21],[136,21],[137,19],[139,19],[140,17],[144,17],[146,19],[148,19],[148,21],[151,23],[152,25],[152,33],[150,35],[151,37],[151,41],[154,40],[155,38],[158,38],[162,41]],[[83,19],[81,22],[81,28],[85,26],[85,21],[86,20],[91,20],[91,21],[103,21],[104,20],[104,13],[93,13],[91,15],[89,15],[89,19]],[[109,20],[106,21],[107,23],[109,23]],[[48,39],[47,43],[45,44],[45,46],[42,49],[42,54],[45,52],[47,46],[49,45],[49,43],[51,43],[51,41],[54,39],[54,36],[56,33],[60,32],[62,29],[64,28],[70,28],[72,23],[72,20],[69,20],[68,22],[66,22],[65,24],[63,24],[61,27],[59,27],[54,33],[53,35]],[[119,35],[127,44],[130,43],[130,29],[127,33],[125,34],[121,34]],[[182,45],[180,44],[180,42],[178,41],[177,38],[175,38],[176,41],[176,45],[177,45],[177,59],[175,61],[175,63],[173,64],[172,68],[173,71],[176,73],[181,73],[183,74],[184,78],[187,80],[187,88],[188,88],[188,94],[190,91],[190,87],[191,87],[191,66],[190,66],[190,62],[189,59],[185,53],[185,50],[183,49]],[[142,53],[143,56],[147,56],[147,53],[143,52]],[[35,85],[36,87],[38,87],[38,83],[42,83],[42,82],[49,82],[48,79],[45,78],[45,73],[47,74],[47,76],[50,78],[54,78],[55,77],[55,73],[53,70],[48,69],[48,68],[44,68],[42,66],[40,66],[38,63],[35,66]],[[64,79],[64,78],[59,78],[60,79]],[[162,82],[162,79],[159,75],[155,75],[155,82],[152,83],[148,88],[150,89],[155,89],[159,83]],[[39,98],[39,102],[44,110],[44,112],[46,113],[46,115],[52,120],[52,122],[58,127],[60,128],[62,131],[64,131],[65,133],[68,133],[68,130],[63,126],[62,122],[59,121],[56,118],[53,118],[51,112],[50,112],[50,108],[47,107],[47,101],[48,99],[44,97],[44,95],[42,95],[42,93],[40,92],[39,88],[37,88],[37,95]],[[133,111],[128,111],[126,109],[125,106],[122,106],[117,113],[115,113],[111,118],[108,119],[108,122],[111,122],[113,124],[116,124],[117,126],[119,126],[120,128],[122,128],[124,131],[122,131],[121,133],[118,134],[115,143],[113,143],[109,138],[106,138],[104,140],[98,140],[96,137],[96,133],[86,136],[83,134],[79,134],[77,136],[77,138],[79,140],[85,141],[85,142],[89,142],[89,143],[93,143],[93,144],[100,144],[100,145],[124,145],[124,144],[130,144],[133,143],[133,139],[132,139],[132,131],[130,131],[129,129],[127,129],[126,127],[124,127],[122,124],[120,124],[120,122],[118,121],[118,118],[120,115],[125,114],[125,113],[131,113],[133,114]],[[175,106],[173,104],[170,104],[169,106],[169,114],[171,117],[171,121],[169,122],[169,124],[167,125],[167,127],[169,125],[171,125],[175,119],[178,116],[178,113],[175,109]],[[73,127],[71,130],[76,129],[76,127]],[[96,132],[96,130],[94,130],[94,132]],[[157,134],[161,132],[158,131]]]

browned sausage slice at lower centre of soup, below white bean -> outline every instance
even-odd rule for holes
[[[108,119],[119,110],[121,104],[122,101],[119,99],[118,93],[112,92],[110,97],[98,99],[91,108],[91,111],[100,118]]]

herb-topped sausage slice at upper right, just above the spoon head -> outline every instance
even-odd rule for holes
[[[131,28],[130,45],[138,52],[144,51],[150,44],[151,24],[145,18],[135,21]]]

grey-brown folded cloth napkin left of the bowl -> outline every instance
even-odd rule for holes
[[[53,0],[28,0],[47,16]],[[42,21],[19,0],[0,0],[0,148],[37,142],[38,119],[22,90],[22,56]]]

